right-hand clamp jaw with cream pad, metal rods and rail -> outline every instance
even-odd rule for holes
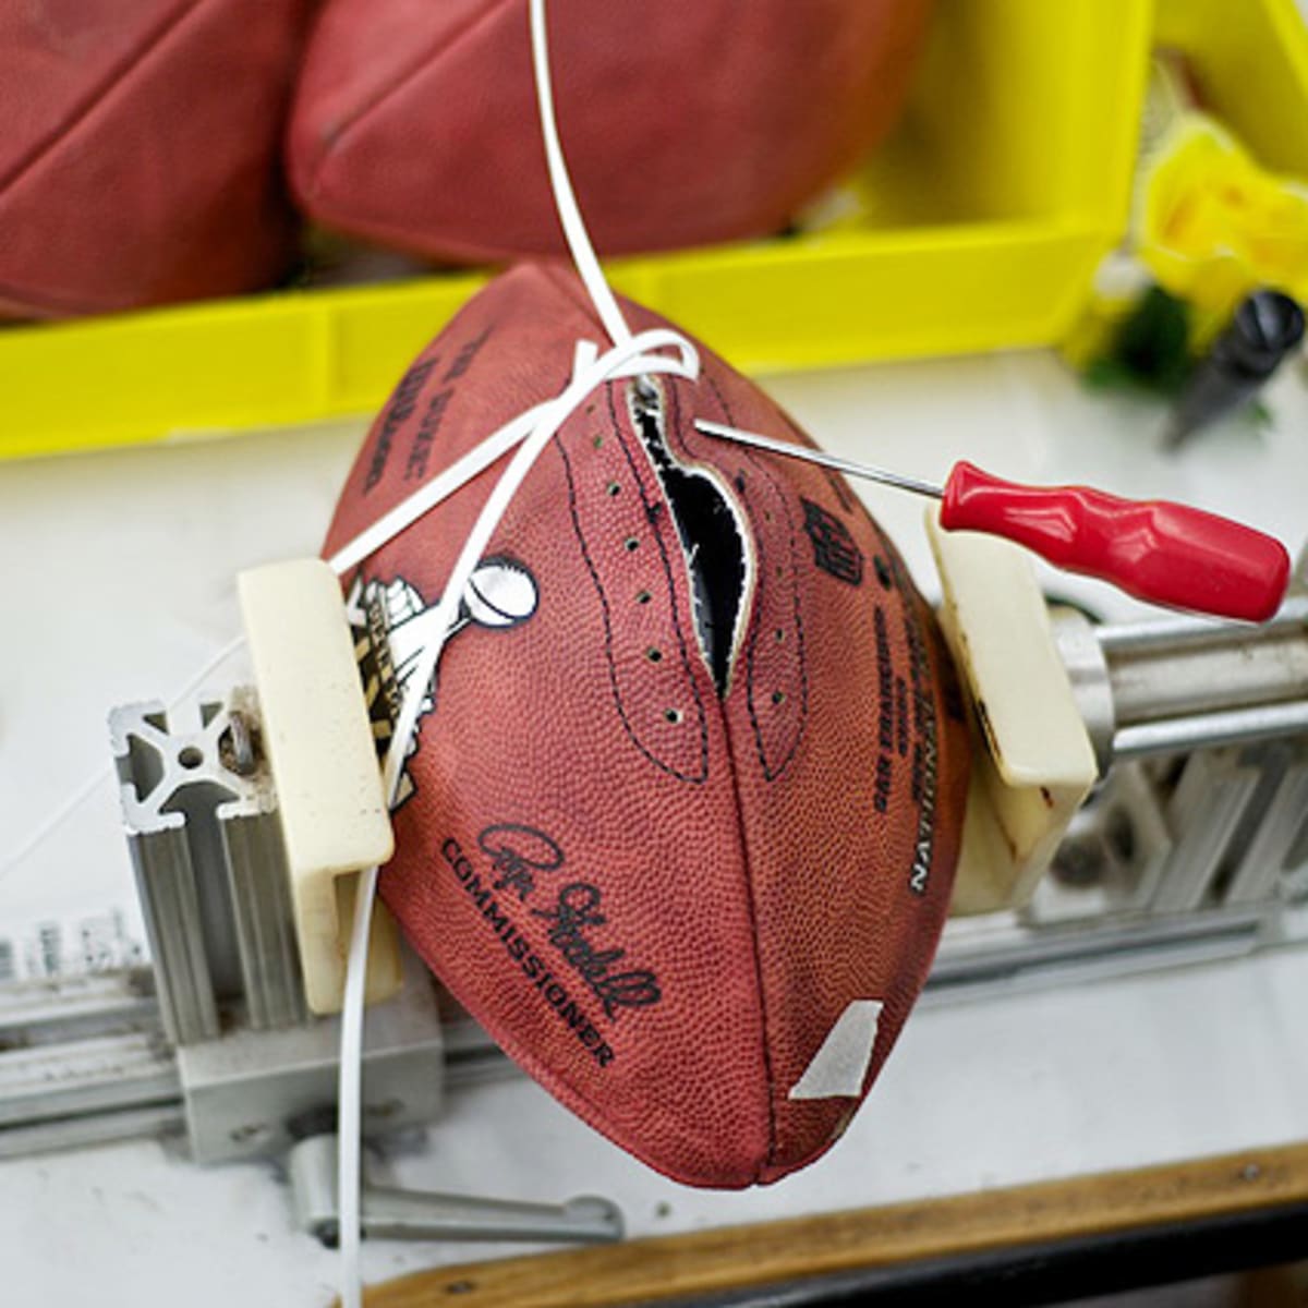
[[[974,721],[933,991],[1308,938],[1303,582],[1257,628],[1096,627],[1008,542],[929,531]]]

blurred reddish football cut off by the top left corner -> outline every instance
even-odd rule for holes
[[[0,5],[0,317],[267,285],[309,0]]]

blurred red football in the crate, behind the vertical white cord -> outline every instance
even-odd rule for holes
[[[564,154],[596,247],[770,235],[903,103],[929,0],[555,0]],[[526,0],[328,0],[288,137],[317,221],[447,260],[559,254]]]

